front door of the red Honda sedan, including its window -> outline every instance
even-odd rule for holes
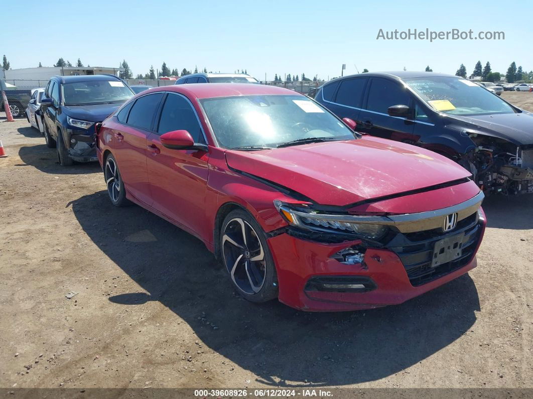
[[[209,154],[199,150],[175,150],[161,144],[161,134],[186,130],[197,143],[205,134],[192,103],[178,93],[168,93],[161,108],[157,131],[148,136],[147,157],[154,208],[168,218],[199,233],[205,226],[205,196]]]

